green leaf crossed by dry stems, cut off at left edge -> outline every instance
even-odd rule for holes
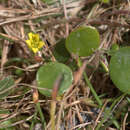
[[[3,99],[4,97],[8,96],[11,93],[9,88],[12,85],[14,85],[14,80],[11,76],[6,77],[5,79],[0,81],[0,99]],[[9,90],[5,91],[6,89],[9,89]]]

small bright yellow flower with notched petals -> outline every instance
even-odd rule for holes
[[[29,40],[26,40],[26,43],[34,53],[37,53],[45,45],[45,43],[40,40],[39,34],[28,33],[28,37]]]

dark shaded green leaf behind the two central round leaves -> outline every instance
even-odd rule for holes
[[[65,39],[56,43],[53,50],[54,57],[58,62],[65,63],[70,58],[70,54],[65,47]]]

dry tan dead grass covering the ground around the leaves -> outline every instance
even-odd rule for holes
[[[65,0],[62,0],[60,3],[60,1],[54,0],[51,5],[47,5],[42,0],[0,1],[0,79],[8,75],[12,75],[15,79],[12,94],[6,99],[0,100],[0,109],[10,112],[10,114],[0,115],[0,122],[11,119],[12,124],[10,126],[15,126],[15,129],[28,130],[36,112],[32,100],[32,90],[36,88],[35,75],[41,64],[33,59],[32,53],[25,43],[28,32],[40,34],[41,39],[46,42],[42,54],[46,59],[55,61],[52,48],[57,41],[66,38],[72,30],[85,24],[95,26],[99,30],[101,36],[100,48],[103,52],[87,58],[85,65],[89,61],[89,65],[93,66],[94,69],[81,67],[74,73],[74,84],[65,94],[63,100],[57,103],[56,125],[57,128],[66,127],[67,130],[78,130],[78,128],[91,130],[96,128],[96,125],[102,119],[104,109],[112,103],[109,99],[114,100],[120,94],[112,84],[109,74],[100,71],[99,60],[107,60],[109,63],[110,57],[106,55],[104,50],[109,50],[114,43],[125,46],[123,35],[130,32],[129,0],[111,0],[109,4],[102,4],[97,1],[68,0],[65,3]],[[126,42],[129,41],[126,40]],[[130,44],[128,43],[128,45]],[[103,59],[101,56],[105,58]],[[30,64],[13,62],[8,66],[4,65],[14,57],[26,59]],[[47,62],[46,59],[43,60],[42,64]],[[71,62],[71,60],[68,62]],[[24,71],[22,76],[14,74],[16,68]],[[87,71],[97,94],[106,94],[102,98],[104,105],[101,109],[96,109],[97,104],[92,103],[94,98],[84,82],[83,71]],[[48,130],[50,129],[50,101],[51,99],[39,95],[39,102]],[[128,121],[126,120],[129,111],[125,114],[124,119],[121,119],[122,110],[118,110],[119,107],[128,107],[126,100],[122,99],[117,103],[113,113],[115,113],[114,116],[121,125],[120,128],[127,130]],[[40,122],[39,116],[37,116],[37,122]],[[106,122],[109,122],[109,119]],[[36,128],[34,129],[36,130]],[[116,130],[117,128],[110,125],[106,129]]]

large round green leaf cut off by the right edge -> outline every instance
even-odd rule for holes
[[[130,94],[130,47],[120,48],[112,56],[110,77],[120,91]]]

